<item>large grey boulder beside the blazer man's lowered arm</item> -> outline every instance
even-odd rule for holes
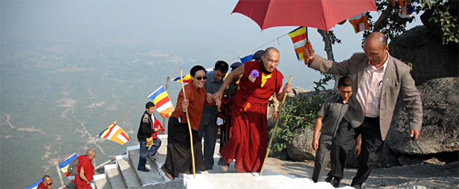
[[[391,129],[386,139],[392,151],[403,156],[426,156],[444,159],[442,154],[459,152],[459,77],[429,80],[418,86],[423,102],[421,138],[408,137],[408,115],[401,102],[396,105]]]

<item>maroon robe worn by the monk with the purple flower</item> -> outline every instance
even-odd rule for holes
[[[253,70],[260,73],[254,82],[248,79]],[[261,87],[263,70],[261,61],[244,63],[244,76],[233,99],[230,139],[220,151],[226,163],[236,158],[239,172],[259,172],[268,148],[268,99],[280,92],[284,77],[275,69]]]

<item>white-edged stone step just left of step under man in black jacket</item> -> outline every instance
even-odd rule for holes
[[[116,156],[116,162],[118,169],[121,171],[122,178],[125,180],[127,188],[138,188],[140,187],[139,177],[134,170],[134,166],[130,165],[127,160],[128,156]]]

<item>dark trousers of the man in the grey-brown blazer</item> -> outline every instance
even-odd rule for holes
[[[346,159],[351,153],[354,140],[362,134],[362,148],[360,156],[357,158],[359,167],[357,175],[352,180],[353,185],[362,185],[370,175],[376,163],[379,151],[384,144],[381,139],[381,129],[379,128],[379,117],[365,117],[364,122],[357,128],[352,128],[346,119],[342,119],[339,123],[337,136],[333,139],[332,151],[330,158],[332,159],[332,170],[328,175],[337,178],[343,178],[344,167],[346,167]]]

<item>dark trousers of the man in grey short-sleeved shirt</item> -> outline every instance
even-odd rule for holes
[[[330,162],[330,145],[325,144],[322,141],[319,141],[319,148],[315,153],[314,159],[314,171],[312,171],[312,181],[317,183],[317,181],[322,180],[322,175],[324,174],[325,168],[327,168],[328,163]]]

